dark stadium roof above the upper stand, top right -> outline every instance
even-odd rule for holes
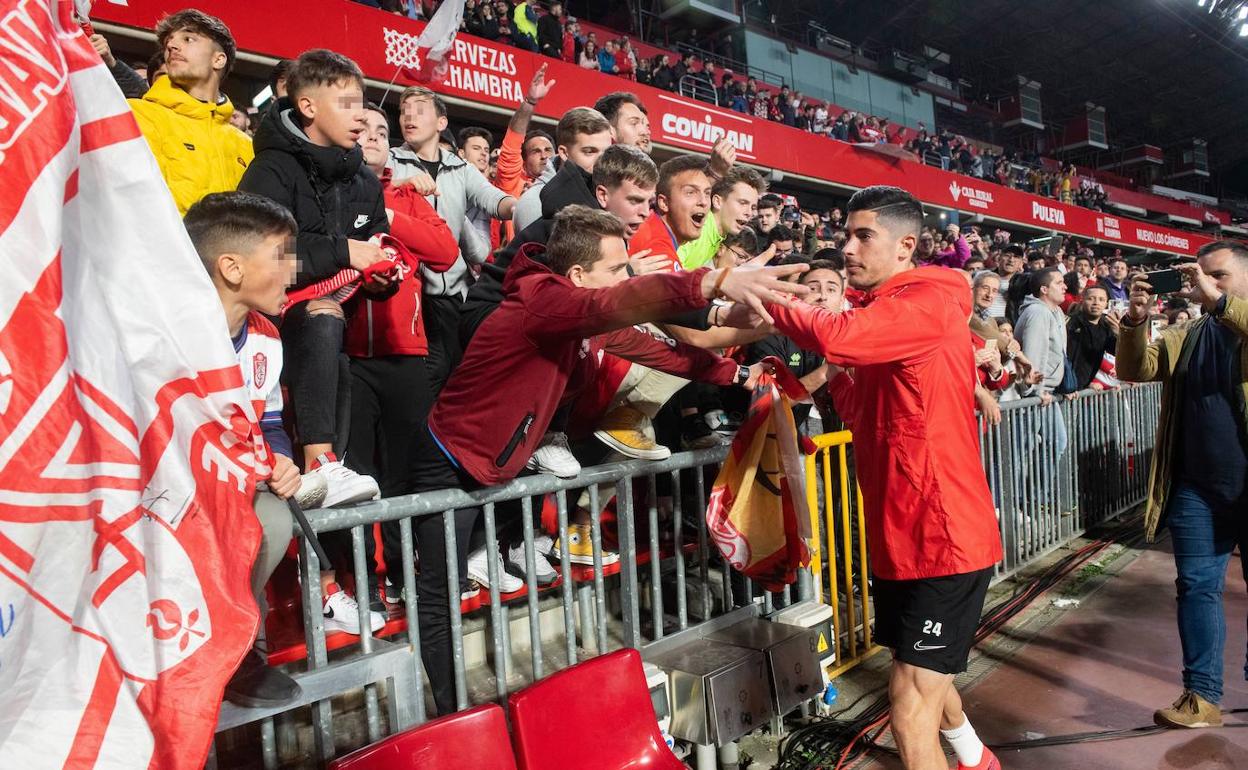
[[[1209,0],[1214,1],[1214,0]],[[1046,122],[1087,102],[1107,110],[1116,147],[1209,146],[1213,170],[1248,160],[1248,36],[1226,7],[1197,0],[771,0],[778,25],[809,21],[866,50],[924,46],[975,94],[1002,96],[1023,75],[1042,85]],[[1241,2],[1227,4],[1232,14]],[[1244,5],[1248,7],[1248,5]]]

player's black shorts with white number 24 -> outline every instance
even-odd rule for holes
[[[872,580],[875,640],[895,660],[961,674],[975,644],[992,568],[920,580]]]

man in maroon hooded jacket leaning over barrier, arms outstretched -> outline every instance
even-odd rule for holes
[[[503,283],[503,302],[472,338],[463,361],[429,413],[429,446],[417,462],[417,492],[479,489],[523,470],[569,384],[584,382],[594,347],[715,384],[753,387],[761,367],[739,367],[709,351],[654,338],[634,324],[705,307],[714,297],[786,303],[805,293],[785,282],[805,265],[698,270],[628,277],[624,225],[605,211],[568,206],[555,217],[547,245],[549,267],[527,245]],[[570,393],[569,396],[574,396]],[[467,573],[468,537],[479,508],[456,512],[459,574]],[[451,650],[447,542],[441,515],[417,518],[413,534],[421,573],[421,654],[439,714],[456,710]]]

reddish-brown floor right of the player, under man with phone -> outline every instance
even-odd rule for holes
[[[1182,656],[1168,542],[1144,550],[997,668],[963,690],[980,736],[993,743],[1152,724],[1178,696]],[[1248,593],[1238,558],[1227,575],[1223,709],[1248,708]],[[1006,629],[1005,634],[1011,630]],[[987,650],[990,656],[993,651]],[[1005,770],[1248,769],[1248,714],[1222,730],[1173,730],[1107,743],[998,754]],[[1242,725],[1232,728],[1229,725]],[[901,768],[892,758],[864,768]]]

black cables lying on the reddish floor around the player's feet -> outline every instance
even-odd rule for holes
[[[1121,523],[1118,527],[1114,527],[1103,537],[1083,545],[1078,550],[1066,554],[1035,579],[1016,588],[1010,597],[1006,597],[987,608],[980,620],[980,628],[976,631],[976,644],[1001,630],[1001,628],[1003,628],[1012,618],[1017,616],[1023,608],[1057,585],[1066,575],[1075,572],[1075,569],[1081,567],[1083,563],[1099,555],[1111,545],[1134,545],[1141,538],[1142,535],[1138,525],[1138,517],[1133,517]],[[852,706],[861,701],[862,698],[865,698],[865,695],[860,696],[846,709],[839,711],[837,716],[852,709]],[[1244,711],[1248,711],[1248,709],[1234,709],[1228,713],[1237,714]],[[776,764],[776,770],[842,770],[845,768],[851,768],[871,750],[890,751],[887,748],[876,745],[876,740],[887,728],[887,696],[880,696],[864,709],[862,714],[854,719],[839,719],[834,716],[802,725],[790,733],[789,736],[780,744],[780,761]],[[1248,725],[1234,724],[1224,726],[1242,728]],[[1153,735],[1166,729],[1167,728],[1148,725],[1124,730],[1052,735],[1035,740],[1000,744],[993,746],[993,749],[1015,751],[1041,746],[1122,740],[1127,738]]]

